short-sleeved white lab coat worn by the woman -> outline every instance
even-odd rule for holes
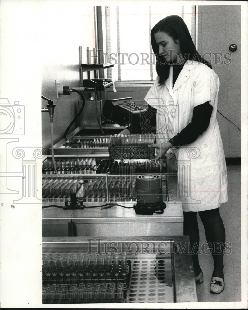
[[[218,208],[228,200],[227,169],[216,120],[219,78],[205,64],[188,60],[172,88],[173,66],[165,85],[158,78],[145,101],[157,109],[156,143],[168,142],[192,119],[193,108],[209,101],[213,106],[207,130],[191,144],[178,148],[177,172],[183,211]]]

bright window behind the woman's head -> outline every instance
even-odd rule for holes
[[[167,2],[168,3],[168,2]],[[153,81],[157,73],[155,55],[150,42],[152,27],[162,18],[178,15],[183,18],[195,41],[195,6],[161,4],[152,6],[132,2],[129,6],[102,7],[104,63],[108,78],[115,81]]]

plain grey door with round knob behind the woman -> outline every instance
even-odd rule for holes
[[[235,43],[237,51],[229,51]],[[198,51],[212,60],[220,79],[218,110],[241,129],[241,6],[198,7]],[[214,53],[231,53],[231,63]],[[223,62],[228,64],[223,64]],[[241,132],[217,112],[225,157],[241,157]]]

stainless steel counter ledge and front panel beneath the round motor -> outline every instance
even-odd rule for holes
[[[133,206],[135,202],[119,203]],[[102,203],[85,203],[89,205]],[[45,204],[44,206],[46,206]],[[61,205],[61,204],[57,204]],[[109,209],[86,208],[63,210],[43,209],[43,236],[157,236],[182,235],[183,211],[181,202],[166,202],[163,214],[138,215],[134,209],[112,206]]]

